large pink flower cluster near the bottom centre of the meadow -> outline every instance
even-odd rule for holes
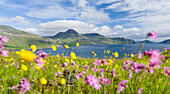
[[[92,74],[89,74],[85,78],[85,82],[92,86],[94,89],[99,90],[102,86],[99,83],[99,80],[96,76],[92,76]]]

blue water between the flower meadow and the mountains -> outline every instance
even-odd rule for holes
[[[125,50],[123,50],[123,47]],[[110,50],[110,54],[106,55],[107,57],[113,56],[112,52],[118,52],[119,58],[123,58],[126,54],[134,53],[138,48],[140,47],[140,44],[128,44],[128,45],[90,45],[90,46],[79,46],[75,47],[73,52],[76,53],[77,57],[85,57],[85,58],[93,58],[94,55],[92,54],[92,51],[94,51],[97,54],[98,58],[104,57],[104,50]],[[64,47],[57,47],[56,51],[52,51],[51,48],[42,49],[46,53],[49,53],[51,51],[51,55],[59,54],[61,55],[64,51],[65,56],[69,56],[70,52],[72,51],[73,46],[70,46],[70,48],[65,49]],[[168,48],[170,49],[170,44],[145,44],[142,52],[144,50],[150,50],[150,49],[159,49],[160,48]],[[37,50],[39,51],[39,50]],[[160,50],[161,52],[164,51],[164,49]],[[67,53],[67,54],[66,54]]]

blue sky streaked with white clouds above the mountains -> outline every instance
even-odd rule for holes
[[[0,25],[53,36],[74,29],[80,34],[144,40],[155,31],[170,39],[170,0],[0,0]]]

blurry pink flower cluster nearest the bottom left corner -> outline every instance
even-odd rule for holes
[[[29,82],[28,79],[22,78],[22,80],[20,81],[19,87],[13,86],[11,89],[15,89],[16,92],[19,92],[20,90],[20,94],[27,93],[27,91],[29,91],[30,87],[32,86],[32,84],[28,82]]]

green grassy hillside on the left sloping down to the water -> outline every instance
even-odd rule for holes
[[[0,25],[0,36],[7,36],[9,38],[9,41],[4,43],[4,46],[9,49],[29,48],[33,44],[38,48],[42,48],[50,47],[54,44],[54,40],[42,38],[6,25]]]

